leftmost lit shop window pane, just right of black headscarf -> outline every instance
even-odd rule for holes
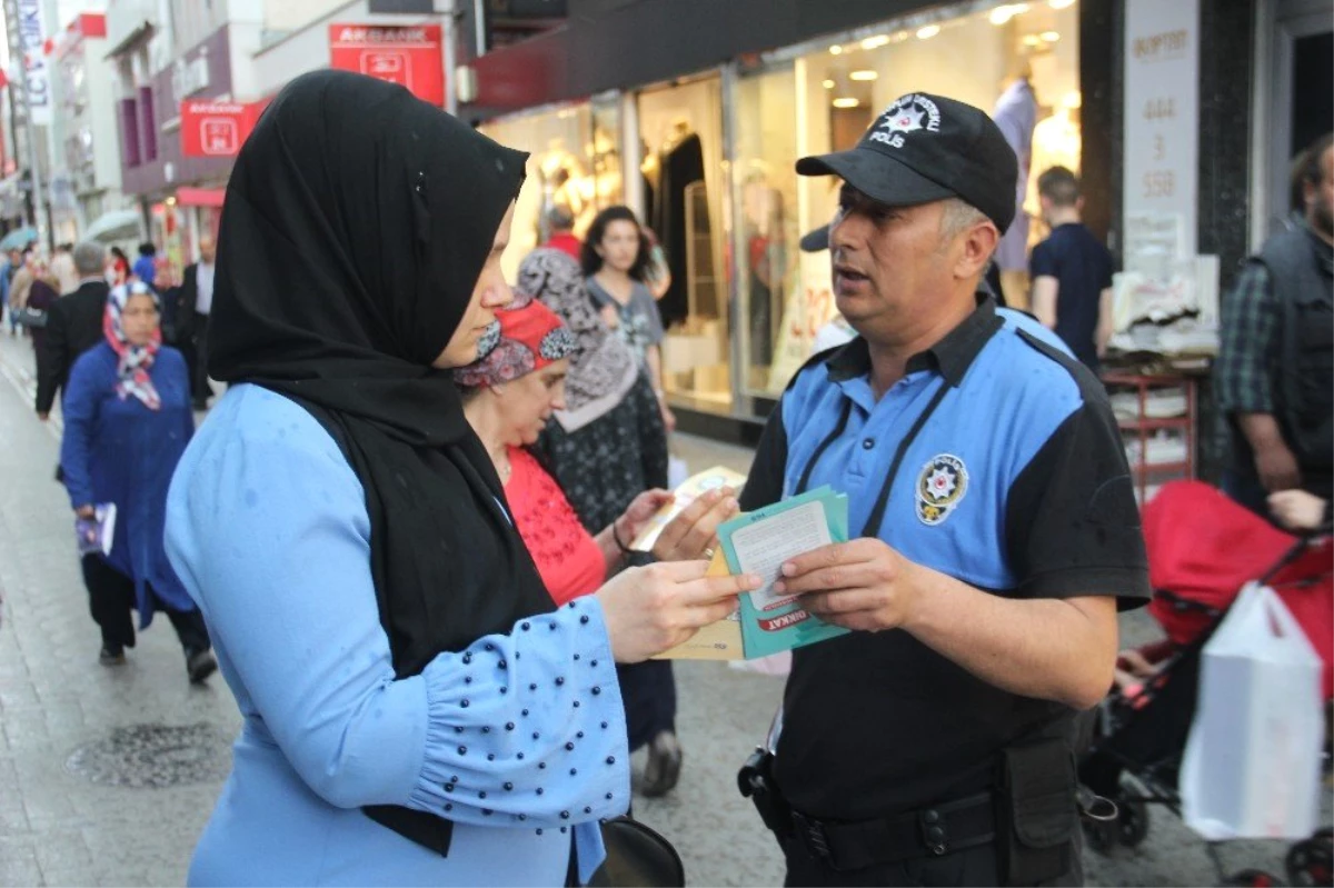
[[[530,152],[528,179],[515,207],[504,272],[514,280],[519,263],[546,243],[547,211],[567,208],[580,239],[598,211],[623,200],[620,111],[616,99],[542,108],[479,127],[503,145]]]

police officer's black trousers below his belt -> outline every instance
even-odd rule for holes
[[[1031,888],[1079,888],[1079,831],[1075,828],[1073,872]],[[956,851],[943,857],[916,857],[852,872],[838,872],[815,856],[799,839],[788,839],[784,888],[1005,888],[994,845]]]

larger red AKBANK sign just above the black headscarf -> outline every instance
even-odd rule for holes
[[[329,65],[388,80],[444,107],[440,25],[329,25]]]

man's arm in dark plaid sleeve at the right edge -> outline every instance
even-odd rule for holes
[[[1222,305],[1214,388],[1218,408],[1231,416],[1255,453],[1255,469],[1269,492],[1301,487],[1297,457],[1274,419],[1269,357],[1278,351],[1278,305],[1269,269],[1251,263]]]

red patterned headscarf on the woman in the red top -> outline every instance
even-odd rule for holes
[[[559,315],[516,292],[510,307],[496,312],[478,351],[478,361],[454,371],[464,388],[510,383],[555,364],[574,353],[575,339]]]

